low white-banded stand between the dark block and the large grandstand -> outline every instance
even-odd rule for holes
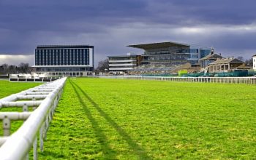
[[[108,56],[109,71],[115,74],[127,73],[127,71],[140,65],[140,60],[140,55],[131,55],[129,53],[127,55]]]

